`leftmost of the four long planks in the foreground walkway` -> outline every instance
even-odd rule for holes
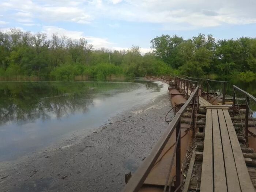
[[[212,110],[206,113],[206,128],[204,137],[204,153],[201,176],[201,192],[213,192],[213,162],[212,162]]]

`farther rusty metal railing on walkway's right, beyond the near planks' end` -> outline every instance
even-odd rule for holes
[[[199,81],[199,86],[200,86],[200,89],[201,89],[201,95],[202,95],[202,93],[205,93],[206,97],[207,97],[207,100],[209,99],[209,97],[211,97],[212,94],[214,95],[215,99],[217,99],[221,96],[221,94],[217,95],[215,93],[214,89],[211,87],[209,82],[221,83],[222,84],[222,104],[224,105],[225,96],[226,96],[226,84],[228,83],[227,81],[219,81],[219,80],[204,79],[204,78],[193,78],[193,77],[189,77],[189,76],[185,76],[185,77],[189,78],[189,79],[196,79],[196,80]],[[210,88],[210,90],[209,90],[209,88]],[[209,91],[211,91],[212,93],[209,93]]]

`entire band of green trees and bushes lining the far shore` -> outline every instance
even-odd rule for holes
[[[96,50],[85,38],[54,33],[48,39],[45,33],[0,31],[0,80],[81,81],[168,74],[256,79],[255,38],[161,35],[151,40],[151,48],[145,54],[134,45],[128,50]]]

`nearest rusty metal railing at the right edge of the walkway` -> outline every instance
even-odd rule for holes
[[[236,90],[239,91],[240,93],[244,94],[246,96],[245,99],[245,103],[246,103],[246,109],[245,109],[245,128],[243,127],[243,122],[242,122],[242,118],[241,118],[241,113],[240,113],[240,109],[239,109],[239,104],[237,102],[237,106],[238,106],[238,111],[240,113],[240,118],[241,118],[241,123],[242,123],[242,127],[244,128],[244,132],[245,132],[245,139],[246,139],[246,143],[248,143],[248,127],[249,127],[249,104],[250,104],[250,99],[254,102],[256,102],[256,98],[253,97],[251,94],[247,93],[246,91],[240,89],[239,87],[233,85],[233,109],[235,110],[235,105],[236,105]],[[255,123],[254,123],[254,119],[252,117],[252,121],[253,121],[253,125],[255,127]],[[253,134],[253,133],[252,133]],[[254,135],[254,134],[253,134]]]

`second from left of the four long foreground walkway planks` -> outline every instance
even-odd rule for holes
[[[214,159],[214,191],[227,191],[217,109],[212,109],[212,138]]]

